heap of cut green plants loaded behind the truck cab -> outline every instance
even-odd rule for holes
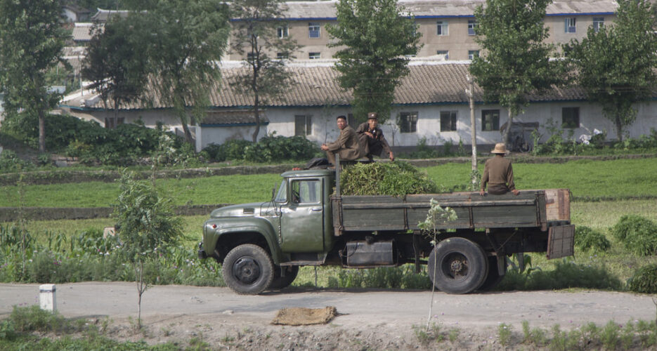
[[[355,164],[346,167],[340,178],[343,195],[432,194],[438,192],[433,180],[408,162]]]

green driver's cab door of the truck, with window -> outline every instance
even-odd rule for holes
[[[280,248],[283,252],[324,250],[323,179],[293,179],[290,197],[280,207]]]

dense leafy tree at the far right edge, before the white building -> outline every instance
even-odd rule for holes
[[[623,127],[637,118],[632,105],[650,100],[657,86],[655,12],[646,0],[618,0],[613,25],[589,28],[582,41],[564,46],[577,72],[576,82],[591,102],[602,106],[623,140]]]

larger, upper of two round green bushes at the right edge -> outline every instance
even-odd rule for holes
[[[622,242],[625,248],[639,256],[657,253],[657,224],[648,218],[637,215],[620,217],[611,227],[611,234]]]

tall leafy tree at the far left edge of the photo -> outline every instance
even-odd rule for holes
[[[58,0],[0,0],[0,91],[7,117],[39,117],[39,151],[46,151],[45,119],[60,95],[46,74],[60,62],[66,34]]]

